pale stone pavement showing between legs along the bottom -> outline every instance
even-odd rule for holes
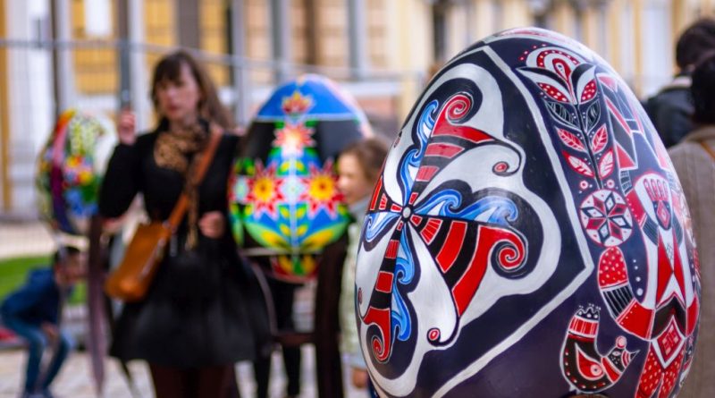
[[[19,398],[21,383],[24,377],[25,354],[21,350],[0,351],[0,398]],[[312,346],[303,347],[301,397],[317,396],[315,392],[315,352]],[[242,362],[236,366],[241,396],[254,396],[256,388],[253,382],[253,369],[249,363]],[[130,372],[139,389],[139,397],[154,396],[151,388],[147,365],[142,361],[130,363]],[[130,389],[124,381],[122,371],[115,360],[105,361],[105,394],[102,398],[131,398]],[[271,373],[270,396],[282,398],[286,383],[282,370],[282,360],[278,354],[273,357]],[[87,354],[75,352],[63,366],[63,370],[53,384],[53,392],[58,398],[94,398],[97,397],[92,381],[91,368]],[[349,380],[344,377],[346,398],[366,398],[364,391],[357,391],[349,386]]]

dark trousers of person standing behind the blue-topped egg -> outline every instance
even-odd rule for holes
[[[268,285],[273,295],[275,320],[278,330],[293,330],[293,301],[297,284],[288,284],[275,279],[268,279]],[[283,366],[285,367],[289,396],[300,394],[300,347],[282,347]],[[271,378],[271,357],[256,360],[253,363],[256,377],[257,398],[268,396],[269,380]]]

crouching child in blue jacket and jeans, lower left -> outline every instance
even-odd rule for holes
[[[49,387],[71,350],[71,338],[59,327],[62,298],[84,274],[80,250],[66,246],[57,250],[52,267],[34,270],[27,283],[10,294],[0,307],[5,326],[28,343],[28,364],[23,397],[51,398]],[[54,355],[40,369],[42,354],[52,347]]]

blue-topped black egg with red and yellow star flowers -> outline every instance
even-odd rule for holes
[[[272,275],[304,282],[349,222],[333,159],[371,134],[355,102],[322,76],[283,84],[248,128],[231,182],[231,224],[244,253]]]

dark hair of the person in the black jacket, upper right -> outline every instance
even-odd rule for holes
[[[702,55],[715,48],[715,20],[702,18],[690,25],[677,39],[676,63],[681,70],[693,68]]]

